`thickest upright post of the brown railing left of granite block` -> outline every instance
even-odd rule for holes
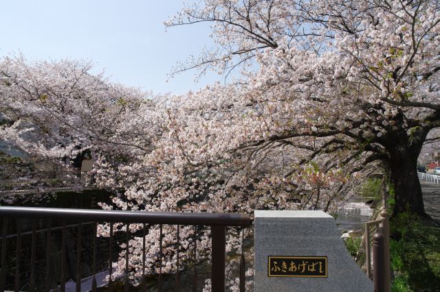
[[[212,265],[211,285],[212,292],[225,291],[225,226],[211,226],[212,234]]]

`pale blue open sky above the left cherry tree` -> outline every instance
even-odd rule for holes
[[[207,24],[171,27],[163,22],[179,0],[13,0],[0,8],[0,57],[23,53],[30,60],[92,60],[112,81],[155,93],[185,93],[221,80],[210,73],[197,84],[195,71],[167,80],[179,60],[212,47]]]

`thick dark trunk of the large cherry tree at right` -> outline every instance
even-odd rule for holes
[[[396,148],[395,151],[391,151],[389,161],[391,180],[395,189],[393,216],[401,212],[414,212],[426,217],[421,186],[417,176],[418,153]]]

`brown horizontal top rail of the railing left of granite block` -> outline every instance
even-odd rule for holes
[[[250,226],[250,215],[227,213],[144,212],[68,208],[0,207],[0,217],[112,221],[203,226]]]

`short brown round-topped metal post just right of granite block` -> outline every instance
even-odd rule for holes
[[[375,292],[385,292],[384,235],[377,232],[373,236],[373,282]]]

